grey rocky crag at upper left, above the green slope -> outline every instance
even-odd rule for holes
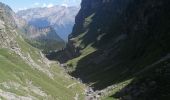
[[[17,36],[15,30],[16,24],[13,17],[14,13],[8,6],[0,3],[0,15],[0,47],[17,47],[17,43],[14,40]]]

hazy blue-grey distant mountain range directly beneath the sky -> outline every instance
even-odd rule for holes
[[[17,12],[17,15],[25,19],[29,25],[35,27],[52,26],[58,35],[67,41],[68,34],[72,32],[78,7],[65,7],[56,5],[54,7],[31,8]]]

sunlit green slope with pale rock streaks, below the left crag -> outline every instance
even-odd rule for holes
[[[72,80],[56,62],[43,61],[40,51],[19,38],[18,41],[21,52],[30,56],[26,62],[15,52],[0,49],[2,98],[73,100],[76,95],[83,98],[83,86]]]

